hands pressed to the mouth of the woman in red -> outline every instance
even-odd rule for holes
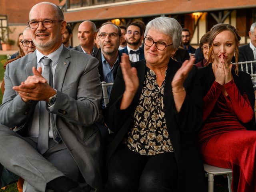
[[[214,64],[215,81],[221,85],[224,85],[232,80],[232,64],[228,64],[226,56],[224,54],[220,54],[218,57],[218,65]]]

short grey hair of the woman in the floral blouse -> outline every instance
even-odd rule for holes
[[[144,37],[147,36],[148,30],[151,28],[166,35],[170,35],[172,38],[172,48],[178,49],[182,41],[182,27],[176,19],[170,17],[154,18],[146,25]]]

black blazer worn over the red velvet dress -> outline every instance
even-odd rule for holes
[[[202,86],[203,95],[205,96],[215,81],[215,76],[212,71],[212,64],[210,63],[205,67],[198,68],[198,76]],[[246,72],[242,71],[239,71],[237,76],[234,69],[232,69],[232,76],[234,79],[234,83],[236,84],[240,94],[244,94],[244,92],[246,93],[252,106],[252,109],[254,110],[255,95],[252,86],[251,76]],[[243,123],[241,122],[241,124]],[[250,122],[243,125],[248,130],[256,130],[255,118],[252,118]]]

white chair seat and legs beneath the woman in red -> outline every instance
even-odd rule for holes
[[[228,175],[228,192],[232,192],[231,190],[231,182],[232,182],[232,170],[226,168],[215,167],[212,165],[208,165],[204,163],[204,171],[208,176],[208,192],[213,192],[214,186],[214,176],[215,175]]]

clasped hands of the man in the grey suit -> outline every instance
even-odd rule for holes
[[[48,101],[50,96],[53,96],[56,91],[48,84],[47,80],[42,76],[42,68],[38,70],[33,67],[33,76],[21,82],[20,86],[14,86],[12,89],[17,91],[24,102]]]

